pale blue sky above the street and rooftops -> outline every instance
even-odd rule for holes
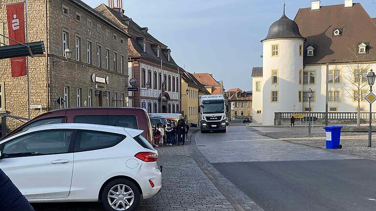
[[[83,0],[92,7],[108,0]],[[115,4],[116,4],[116,0]],[[294,19],[311,0],[285,0]],[[321,0],[321,5],[345,0]],[[362,3],[376,17],[376,0]],[[191,73],[209,72],[225,89],[252,90],[252,67],[262,66],[262,43],[282,16],[283,0],[123,0],[124,14],[171,49],[175,62]]]

